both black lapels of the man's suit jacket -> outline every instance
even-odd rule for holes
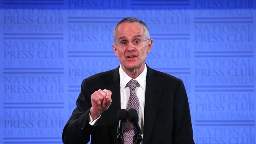
[[[146,77],[146,93],[145,93],[145,108],[144,108],[144,134],[143,143],[147,144],[150,138],[158,104],[161,99],[161,87],[158,85],[160,82],[158,76],[155,75],[153,70],[147,66],[147,77]],[[116,131],[117,131],[117,112],[121,109],[120,103],[120,76],[119,67],[116,68],[112,74],[106,79],[106,88],[111,90],[112,103],[106,111],[109,123],[109,130],[111,136],[115,142]]]

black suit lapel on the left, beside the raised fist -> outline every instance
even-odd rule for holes
[[[116,140],[117,135],[117,112],[121,109],[120,103],[120,77],[119,77],[119,67],[116,68],[111,75],[106,79],[106,87],[108,90],[111,90],[112,103],[106,111],[109,123],[109,130],[112,136],[112,139]]]

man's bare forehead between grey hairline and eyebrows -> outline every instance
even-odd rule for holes
[[[141,24],[139,24],[139,22],[123,22],[121,23],[116,31],[116,37],[117,39],[120,38],[133,38],[135,36],[144,35],[144,29],[143,26],[141,26]]]

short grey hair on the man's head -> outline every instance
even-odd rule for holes
[[[141,24],[141,26],[142,26],[143,29],[144,29],[144,36],[145,36],[145,38],[146,38],[146,39],[150,39],[148,27],[147,27],[147,25],[146,25],[143,21],[141,21],[141,20],[139,20],[139,19],[137,19],[137,18],[134,18],[134,17],[126,17],[126,18],[122,19],[120,22],[118,22],[117,25],[115,26],[115,29],[114,29],[114,31],[113,31],[114,42],[115,42],[115,40],[116,40],[115,30],[117,29],[117,27],[118,27],[122,22],[130,22],[130,23],[139,22],[139,24]]]

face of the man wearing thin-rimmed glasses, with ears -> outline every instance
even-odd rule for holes
[[[141,70],[144,68],[147,53],[152,47],[152,40],[147,39],[144,29],[138,22],[123,22],[115,30],[115,44],[112,44],[115,55],[119,57],[121,66],[126,70]],[[141,41],[139,45],[134,45],[130,41]],[[129,42],[128,46],[121,46],[122,42]]]

